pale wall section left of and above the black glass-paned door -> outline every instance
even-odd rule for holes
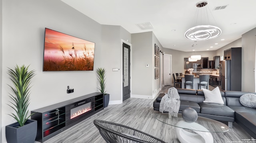
[[[131,34],[121,26],[102,25],[102,63],[107,71],[106,91],[110,94],[110,103],[122,103],[122,42],[131,41]],[[112,71],[118,68],[119,71]]]

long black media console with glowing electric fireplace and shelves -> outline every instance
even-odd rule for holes
[[[104,108],[103,94],[92,93],[31,111],[37,120],[36,141],[44,142]]]

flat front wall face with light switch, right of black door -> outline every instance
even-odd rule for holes
[[[152,32],[132,34],[132,60],[132,94],[152,96]]]

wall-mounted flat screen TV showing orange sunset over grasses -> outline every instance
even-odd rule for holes
[[[45,28],[43,71],[93,71],[95,43]]]

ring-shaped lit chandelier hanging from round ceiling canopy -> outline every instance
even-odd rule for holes
[[[202,8],[202,7],[206,6],[207,4],[208,4],[207,1],[198,2],[196,4],[196,7]],[[206,13],[208,13],[207,9],[206,9]],[[197,16],[198,15],[199,14],[197,14]],[[192,28],[188,29],[185,32],[185,37],[189,40],[202,41],[202,40],[216,38],[220,34],[221,34],[221,29],[217,26],[198,25],[198,26],[195,26],[195,27],[192,27]]]

